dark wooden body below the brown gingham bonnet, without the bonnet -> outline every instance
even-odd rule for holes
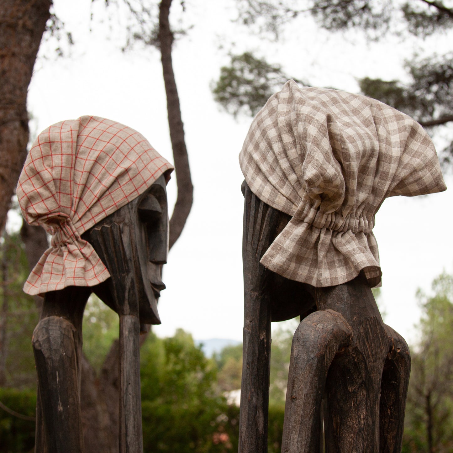
[[[282,452],[400,452],[410,354],[359,275],[314,288],[260,258],[290,216],[245,197],[244,344],[239,451],[267,452],[270,323],[300,316],[291,350]]]

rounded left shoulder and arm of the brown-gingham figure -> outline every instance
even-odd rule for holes
[[[304,318],[293,337],[282,452],[319,452],[321,405],[333,358],[352,342],[352,329],[332,310]]]

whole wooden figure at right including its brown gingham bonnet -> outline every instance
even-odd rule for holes
[[[410,354],[371,293],[382,275],[372,228],[385,198],[445,190],[429,136],[379,101],[289,81],[253,120],[239,160],[239,451],[267,452],[270,323],[300,316],[282,452],[400,452]]]

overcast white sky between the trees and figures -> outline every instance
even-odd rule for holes
[[[29,88],[32,132],[81,115],[104,116],[140,131],[172,161],[159,54],[152,49],[121,53],[124,33],[118,29],[116,10],[111,10],[110,24],[99,24],[105,15],[102,3],[95,3],[90,24],[90,0],[54,0],[75,45],[69,58],[59,59],[53,56],[55,43],[43,46]],[[173,52],[195,192],[187,225],[164,268],[162,325],[155,328],[160,336],[182,327],[197,339],[242,339],[243,177],[237,156],[251,118],[234,120],[214,103],[209,89],[220,66],[228,62],[231,43],[234,52],[256,51],[313,85],[350,92],[358,92],[357,77],[405,77],[402,63],[415,43],[421,45],[395,37],[368,45],[360,33],[329,35],[309,18],[291,24],[280,43],[271,43],[232,24],[233,6],[233,0],[186,0],[183,20],[193,29]],[[179,9],[175,2],[173,17],[180,15]],[[124,14],[120,17],[124,24]],[[423,45],[442,53],[450,50],[449,42],[451,36],[442,35]],[[451,130],[443,131],[445,137],[448,133]],[[442,138],[436,140],[442,143]],[[445,179],[452,185],[451,176]],[[175,178],[168,193],[172,205]],[[387,313],[386,323],[409,342],[416,340],[413,324],[420,316],[417,288],[429,292],[435,276],[452,272],[452,202],[452,189],[423,198],[395,197],[376,215],[383,271],[379,303]]]

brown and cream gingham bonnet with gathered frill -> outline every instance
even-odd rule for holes
[[[446,189],[434,145],[412,118],[292,80],[256,115],[239,161],[251,191],[292,217],[261,264],[316,287],[361,270],[380,286],[372,229],[384,199]]]

